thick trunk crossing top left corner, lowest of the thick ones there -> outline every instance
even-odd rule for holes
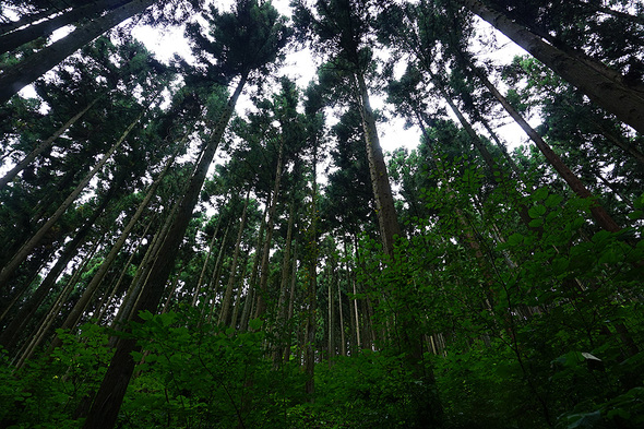
[[[132,0],[103,16],[87,22],[60,40],[4,69],[4,72],[0,74],[0,104],[7,103],[23,87],[40,78],[103,33],[124,20],[144,12],[154,1]]]

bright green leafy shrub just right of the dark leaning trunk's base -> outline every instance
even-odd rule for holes
[[[288,427],[286,409],[303,380],[290,365],[275,371],[264,356],[260,320],[251,332],[204,324],[178,313],[142,314],[133,329],[143,351],[140,376],[121,408],[128,428]]]

